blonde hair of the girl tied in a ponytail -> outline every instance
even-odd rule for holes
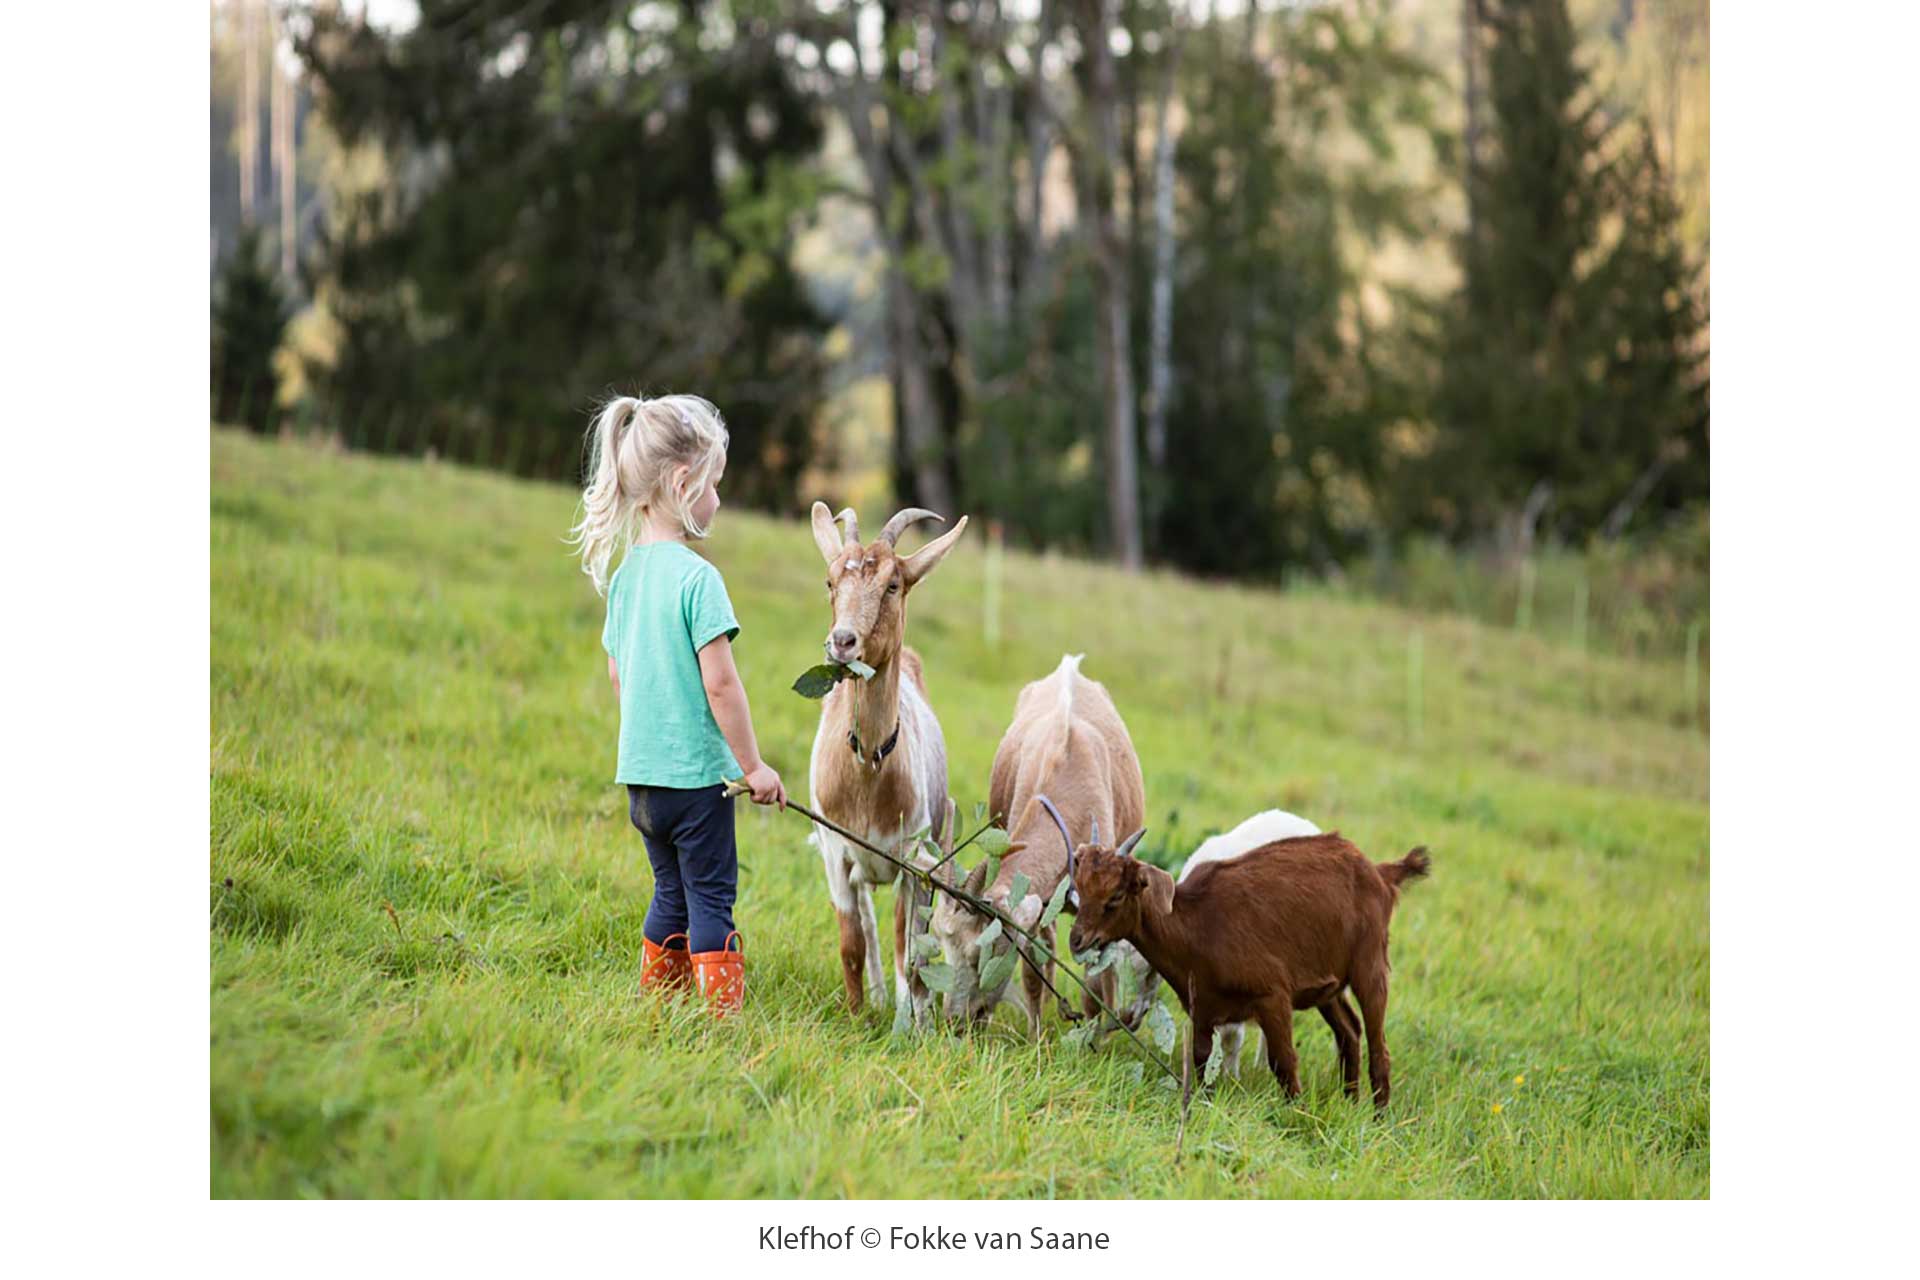
[[[607,595],[607,566],[639,537],[647,512],[674,514],[687,537],[707,537],[693,522],[693,503],[726,461],[726,422],[699,395],[616,395],[588,428],[588,487],[580,522],[568,545],[580,547],[580,568]],[[674,468],[687,466],[674,486]]]

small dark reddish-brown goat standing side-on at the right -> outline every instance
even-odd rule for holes
[[[1390,1094],[1386,1054],[1386,927],[1404,881],[1427,875],[1415,848],[1400,862],[1369,862],[1338,831],[1273,841],[1210,862],[1175,885],[1131,858],[1140,833],[1117,850],[1083,844],[1073,858],[1079,915],[1075,956],[1133,942],[1192,1017],[1192,1059],[1204,1067],[1213,1029],[1254,1019],[1267,1065],[1288,1098],[1300,1094],[1294,1009],[1319,1009],[1332,1029],[1340,1077],[1359,1092],[1359,1031],[1367,1031],[1373,1102]],[[1085,963],[1085,961],[1083,961]],[[1342,992],[1352,986],[1359,1017]]]

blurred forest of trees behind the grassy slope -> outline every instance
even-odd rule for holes
[[[1705,0],[211,4],[211,416],[1699,660]]]

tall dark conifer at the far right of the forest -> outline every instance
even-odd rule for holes
[[[1565,0],[1486,0],[1488,121],[1446,317],[1425,522],[1617,533],[1705,499],[1705,378],[1670,182],[1615,157]],[[1682,464],[1686,462],[1686,464]]]

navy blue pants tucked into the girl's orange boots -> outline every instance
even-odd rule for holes
[[[684,933],[695,952],[726,950],[739,875],[733,798],[720,783],[691,789],[630,783],[626,796],[628,818],[647,841],[653,864],[647,940],[664,946]]]

